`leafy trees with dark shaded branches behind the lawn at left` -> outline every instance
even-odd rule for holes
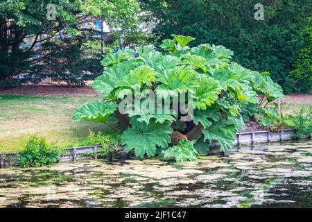
[[[46,17],[49,3],[55,5],[55,20]],[[97,17],[109,20],[112,26],[132,27],[138,10],[135,0],[1,1],[0,80],[28,73],[83,83],[98,76],[102,71],[101,49],[89,51],[98,44],[98,33],[85,25]],[[8,19],[14,20],[10,27]],[[7,35],[9,30],[14,35]],[[33,44],[21,49],[29,36]],[[37,49],[37,44],[42,47]]]

